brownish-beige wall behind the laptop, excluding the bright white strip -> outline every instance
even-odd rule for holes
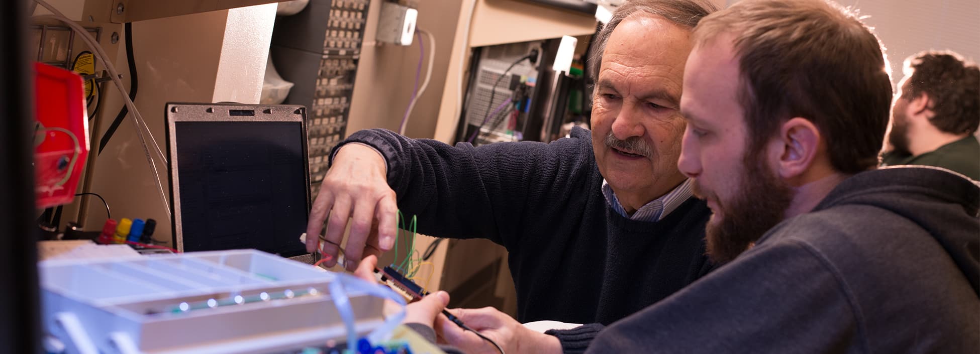
[[[139,78],[136,108],[146,119],[161,149],[166,149],[164,105],[171,101],[209,102],[214,97],[215,80],[227,11],[133,23],[133,55]],[[128,85],[125,51],[120,50],[116,65]],[[107,89],[98,141],[122,107],[118,92]],[[152,148],[151,148],[152,149]],[[166,151],[165,151],[166,154]],[[169,196],[167,165],[157,159],[157,169]],[[96,159],[90,192],[102,195],[113,208],[113,217],[154,218],[155,239],[171,240],[171,223],[158,197],[152,170],[143,155],[131,117],[120,124],[113,140]],[[89,229],[98,229],[105,215],[99,199],[89,199]]]

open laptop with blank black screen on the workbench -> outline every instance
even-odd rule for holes
[[[303,106],[169,103],[166,117],[177,250],[306,253]]]

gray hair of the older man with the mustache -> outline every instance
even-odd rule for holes
[[[613,12],[613,18],[603,26],[599,34],[594,38],[596,41],[594,54],[589,58],[589,75],[593,80],[599,79],[599,66],[603,63],[603,52],[606,52],[606,43],[613,35],[613,29],[619,22],[626,19],[636,12],[644,12],[650,15],[662,17],[670,22],[681,26],[694,28],[698,22],[709,14],[718,11],[707,0],[629,0],[622,4]]]

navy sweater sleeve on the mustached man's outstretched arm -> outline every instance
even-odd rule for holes
[[[544,144],[497,143],[474,148],[428,139],[409,139],[384,129],[352,134],[338,144],[362,143],[387,163],[388,185],[398,207],[417,215],[418,232],[441,238],[483,238],[511,249],[525,220],[536,208],[562,207],[591,166],[591,135],[578,129],[572,138]],[[588,154],[588,155],[586,155]],[[331,154],[332,156],[332,154]],[[331,160],[332,163],[332,160]],[[570,184],[570,185],[569,185]],[[561,201],[561,200],[559,200]]]

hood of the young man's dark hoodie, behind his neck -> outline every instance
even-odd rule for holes
[[[844,180],[813,211],[843,204],[881,207],[918,224],[941,244],[980,296],[980,187],[947,169],[896,166]]]

